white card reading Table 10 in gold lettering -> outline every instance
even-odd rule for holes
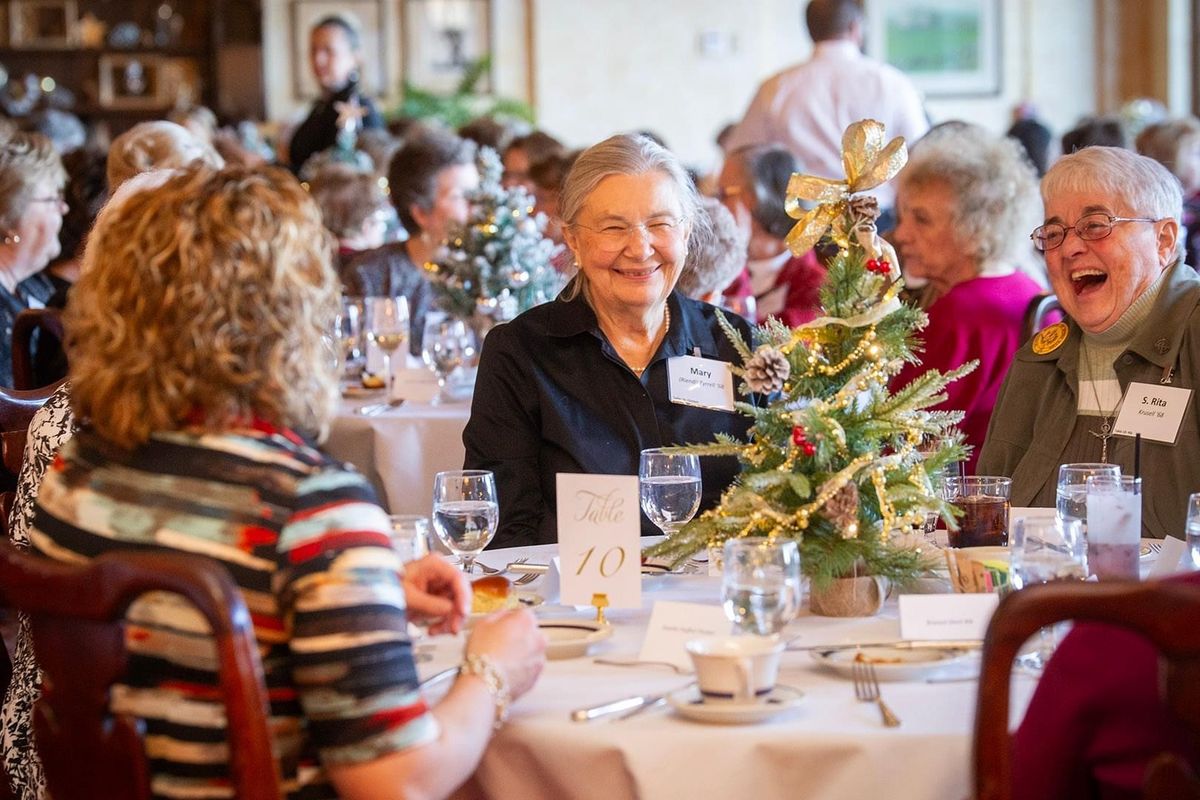
[[[556,477],[562,602],[587,606],[592,595],[604,593],[611,608],[641,608],[637,476]]]

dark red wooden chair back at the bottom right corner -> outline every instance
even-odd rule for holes
[[[1169,609],[1170,613],[1166,613]],[[1012,798],[1012,742],[1008,732],[1013,660],[1039,628],[1062,620],[1106,622],[1136,631],[1158,649],[1159,691],[1171,714],[1200,735],[1200,587],[1176,582],[1054,583],[1004,597],[983,645],[974,732],[974,800]],[[1200,798],[1190,764],[1174,753],[1154,759],[1144,796]]]

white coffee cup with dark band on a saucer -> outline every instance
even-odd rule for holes
[[[757,703],[775,688],[784,654],[778,636],[707,637],[686,648],[706,703]]]

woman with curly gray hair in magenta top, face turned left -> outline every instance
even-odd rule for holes
[[[973,473],[1000,385],[1022,344],[1025,309],[1042,291],[1016,269],[1030,218],[1040,211],[1037,179],[1016,143],[973,125],[935,128],[899,175],[894,243],[905,275],[928,282],[929,326],[922,362],[895,378],[902,386],[926,369],[978,360],[949,385],[937,408],[965,414]],[[1036,223],[1033,223],[1036,224]]]

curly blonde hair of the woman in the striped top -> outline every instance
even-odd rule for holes
[[[77,416],[122,447],[251,420],[323,435],[331,252],[316,203],[282,169],[199,164],[114,198],[65,315]]]

